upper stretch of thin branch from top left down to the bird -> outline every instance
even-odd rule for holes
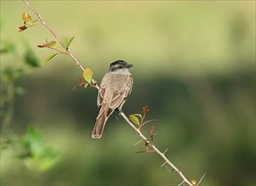
[[[47,28],[47,30],[49,30],[49,31],[53,34],[53,36],[56,38],[56,40],[58,41],[58,43],[59,43],[62,47],[64,47],[64,49],[66,50],[67,54],[75,61],[75,63],[79,66],[79,68],[81,68],[81,71],[84,71],[85,68],[82,67],[81,63],[79,63],[79,61],[76,59],[76,57],[75,57],[75,56],[73,55],[73,53],[70,51],[70,49],[67,48],[67,47],[64,45],[64,42],[61,41],[61,39],[60,39],[60,38],[58,37],[58,35],[54,32],[54,30],[53,30],[49,25],[47,25],[47,23],[44,21],[44,19],[42,19],[42,16],[36,11],[36,9],[33,8],[33,7],[31,6],[31,4],[28,3],[26,0],[23,0],[23,2],[24,2],[29,8],[31,8],[31,10],[37,15],[38,19],[40,19],[42,25],[44,25],[44,26]],[[93,84],[93,85],[96,85],[95,79],[92,79],[92,84]],[[98,85],[96,85],[96,88],[98,89]]]

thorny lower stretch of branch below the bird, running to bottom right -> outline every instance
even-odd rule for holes
[[[131,123],[131,121],[126,117],[126,115],[125,115],[124,112],[120,112],[120,116],[125,119],[125,121],[131,126],[132,129],[134,129],[134,130],[136,131],[137,134],[139,134],[139,136],[140,136],[142,139],[144,139],[145,141],[148,140],[148,139],[145,137],[145,135],[142,134],[141,130],[136,129],[136,126],[134,126],[133,123]],[[182,180],[183,180],[185,183],[187,183],[187,184],[190,185],[190,186],[194,186],[191,182],[189,182],[189,181],[187,180],[187,178],[184,176],[184,174],[183,174],[177,167],[175,167],[175,165],[174,165],[173,163],[170,162],[170,160],[164,155],[164,153],[162,153],[155,145],[153,145],[153,143],[150,143],[149,145],[153,148],[153,150],[155,150],[156,153],[159,154],[159,156],[161,156],[161,157],[164,159],[164,161],[165,161],[168,165],[170,165],[170,167],[172,167],[172,168],[175,170],[175,172],[177,172],[177,173],[180,175],[180,177],[182,178]],[[164,164],[165,164],[165,163],[164,163]]]

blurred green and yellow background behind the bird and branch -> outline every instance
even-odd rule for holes
[[[70,50],[98,82],[114,60],[134,65],[124,111],[150,107],[147,118],[158,119],[154,143],[169,147],[166,155],[187,178],[207,172],[202,185],[255,185],[254,1],[31,3],[61,38],[75,36]],[[43,61],[53,52],[36,45],[54,38],[42,26],[19,33],[23,12],[36,19],[25,3],[1,0],[1,45],[14,43],[14,54],[1,53],[1,75],[6,68],[25,70],[14,81],[25,94],[11,103],[8,128],[15,136],[38,129],[59,159],[40,172],[26,167],[14,148],[1,150],[1,185],[180,183],[160,168],[159,156],[135,153],[144,148],[133,146],[140,138],[117,113],[103,138],[92,139],[97,90],[72,90],[81,70],[70,57],[54,57],[43,68],[25,65],[28,47]]]

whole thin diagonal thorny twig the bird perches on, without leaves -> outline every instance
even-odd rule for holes
[[[24,3],[25,3],[29,8],[31,8],[31,10],[32,10],[32,11],[37,15],[37,17],[41,20],[42,25],[44,25],[44,26],[47,28],[47,30],[49,30],[49,31],[53,34],[53,36],[54,36],[54,37],[56,38],[56,40],[60,43],[60,45],[61,45],[62,47],[64,47],[64,49],[66,50],[67,54],[75,61],[75,63],[79,66],[79,68],[81,68],[81,70],[84,71],[84,68],[81,66],[81,63],[79,63],[78,60],[77,60],[77,59],[75,58],[75,56],[73,55],[73,53],[70,52],[70,49],[67,48],[67,47],[64,45],[64,42],[59,39],[58,35],[53,31],[53,29],[52,29],[49,25],[47,25],[47,23],[44,21],[44,19],[42,19],[42,16],[31,6],[30,3],[28,3],[26,0],[23,0],[23,1],[24,1]],[[96,84],[96,81],[95,81],[94,79],[92,79],[92,84],[95,84],[96,88],[98,89],[98,85]],[[141,130],[140,130],[140,129],[137,129],[136,126],[134,126],[134,125],[130,122],[130,120],[126,117],[126,115],[125,115],[124,112],[120,112],[120,116],[125,119],[126,123],[128,123],[128,124],[131,126],[131,128],[134,129],[137,134],[139,134],[139,136],[140,136],[142,139],[144,139],[145,141],[148,141],[148,139],[145,137],[145,135],[142,134]],[[170,165],[170,167],[172,167],[172,169],[175,170],[175,172],[177,172],[177,173],[180,175],[180,177],[181,177],[182,180],[183,180],[182,183],[187,183],[189,186],[194,186],[191,182],[189,182],[189,181],[187,180],[187,178],[184,176],[184,174],[181,172],[181,170],[179,170],[177,167],[175,167],[175,165],[174,165],[173,163],[171,163],[170,160],[164,155],[164,153],[165,153],[168,149],[165,150],[164,153],[162,153],[155,145],[153,145],[153,143],[148,143],[148,145],[150,145],[150,146],[153,148],[153,150],[154,150],[157,154],[159,154],[159,156],[161,156],[161,157],[164,159],[164,164],[163,164],[163,166],[164,166],[165,164]],[[205,174],[204,174],[204,175],[205,175]],[[203,175],[203,177],[204,177],[204,175]],[[202,179],[203,179],[203,178],[201,178],[200,182],[202,181]],[[181,185],[182,183],[180,183],[179,185]]]

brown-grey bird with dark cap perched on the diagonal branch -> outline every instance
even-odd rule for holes
[[[92,138],[100,139],[109,116],[117,110],[121,112],[127,96],[131,94],[133,79],[129,68],[132,64],[124,60],[110,63],[109,71],[103,76],[97,94],[97,118],[92,130]]]

